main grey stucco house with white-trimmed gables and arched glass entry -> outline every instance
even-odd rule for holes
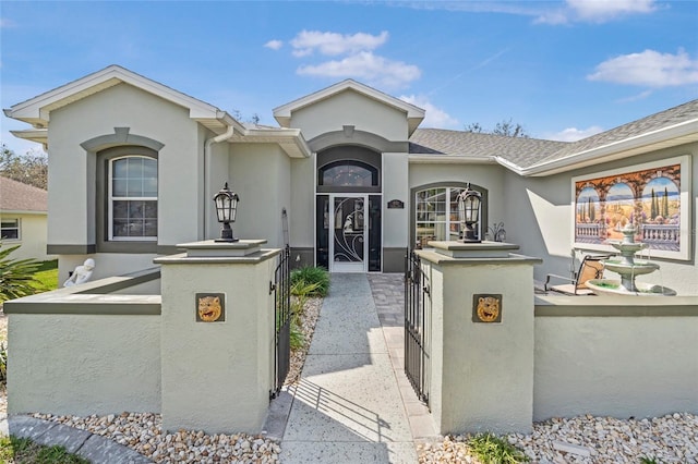
[[[543,258],[539,280],[635,221],[662,267],[648,279],[698,294],[698,100],[562,143],[419,129],[424,110],[347,80],[276,108],[268,127],[111,65],[5,114],[48,147],[61,278],[86,257],[99,278],[218,236],[225,182],[241,198],[236,236],[289,243],[296,262],[333,272],[401,271],[407,248],[457,237],[470,185],[480,235],[504,222]]]

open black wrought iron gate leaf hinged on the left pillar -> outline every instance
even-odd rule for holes
[[[274,282],[269,285],[269,293],[274,293],[274,387],[269,393],[272,399],[276,398],[290,367],[291,359],[291,274],[290,257],[291,251],[288,245],[279,255],[279,264],[274,273]]]

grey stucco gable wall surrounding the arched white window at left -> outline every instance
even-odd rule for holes
[[[81,144],[112,135],[115,127],[165,145],[158,157],[158,243],[198,239],[203,143],[186,109],[119,84],[50,117],[49,244],[95,243],[95,154]]]

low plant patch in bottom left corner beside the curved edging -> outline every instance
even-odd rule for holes
[[[27,438],[0,437],[0,462],[16,464],[89,464],[63,447],[43,447]]]

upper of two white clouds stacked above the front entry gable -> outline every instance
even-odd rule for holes
[[[357,33],[338,34],[323,33],[320,30],[301,30],[292,40],[293,54],[306,57],[317,51],[321,54],[336,57],[339,54],[356,53],[359,51],[374,50],[385,44],[388,33],[383,30],[377,36]]]

